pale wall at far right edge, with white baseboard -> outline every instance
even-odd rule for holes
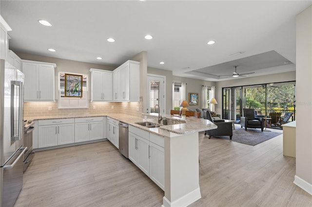
[[[312,6],[296,24],[296,175],[294,183],[312,194]]]

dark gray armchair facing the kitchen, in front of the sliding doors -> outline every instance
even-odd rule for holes
[[[240,117],[240,125],[241,128],[258,128],[261,129],[263,132],[264,128],[264,119],[258,118],[254,116],[254,109],[253,108],[243,108],[244,117]]]

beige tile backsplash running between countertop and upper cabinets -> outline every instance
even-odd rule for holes
[[[95,109],[93,109],[94,106]],[[51,111],[49,111],[49,107],[51,107]],[[76,115],[102,115],[109,113],[123,113],[141,117],[142,97],[140,97],[140,102],[89,102],[88,108],[66,109],[59,109],[58,102],[24,102],[24,117],[26,118],[70,117]]]

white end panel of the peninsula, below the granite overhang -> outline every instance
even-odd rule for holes
[[[163,207],[188,206],[201,198],[198,157],[198,132],[165,137]]]

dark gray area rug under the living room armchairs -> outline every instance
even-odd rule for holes
[[[248,144],[248,145],[257,145],[261,142],[274,138],[282,133],[279,132],[261,132],[261,129],[250,129],[237,127],[233,130],[232,141]],[[214,136],[216,138],[229,139],[229,136]]]

